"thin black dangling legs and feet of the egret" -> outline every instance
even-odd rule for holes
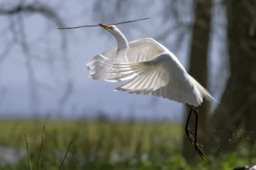
[[[203,154],[203,153],[201,152],[201,150],[199,149],[199,147],[203,148],[203,146],[197,144],[197,124],[198,124],[197,122],[198,122],[199,112],[197,111],[197,109],[193,108],[191,105],[187,104],[187,106],[190,108],[190,112],[189,112],[189,115],[188,115],[188,119],[190,118],[190,114],[192,113],[192,111],[193,111],[193,112],[195,113],[195,115],[196,115],[195,133],[194,133],[195,138],[194,138],[194,139],[192,138],[192,140],[193,140],[192,144],[194,145],[194,147],[195,147],[197,153],[200,155],[201,159],[203,160],[203,156],[204,156],[205,154]],[[189,120],[188,120],[188,122],[189,122]],[[191,133],[193,133],[193,132],[190,131],[190,130],[187,128],[188,122],[187,122],[187,124],[186,124],[186,129],[187,129],[188,133],[189,133],[190,136],[191,136]],[[187,131],[186,131],[186,134],[187,134]],[[190,137],[189,137],[189,139],[191,140]]]

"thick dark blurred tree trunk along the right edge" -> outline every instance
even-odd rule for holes
[[[226,8],[230,78],[211,118],[213,154],[233,151],[243,139],[253,145],[256,139],[256,1],[226,1]]]

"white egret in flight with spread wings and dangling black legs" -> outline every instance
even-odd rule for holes
[[[117,47],[99,53],[87,63],[89,76],[94,80],[117,82],[127,80],[116,91],[130,94],[153,94],[164,99],[186,103],[190,108],[185,131],[197,153],[204,154],[197,144],[198,111],[203,99],[211,101],[211,94],[192,78],[181,62],[164,45],[154,39],[138,39],[130,43],[115,25],[103,25],[117,41]],[[192,111],[196,115],[195,132],[188,128]],[[192,136],[194,135],[194,136]]]

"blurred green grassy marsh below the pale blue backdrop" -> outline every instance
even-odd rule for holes
[[[33,169],[59,169],[71,140],[61,169],[231,170],[249,164],[236,154],[223,158],[208,155],[204,162],[198,159],[198,163],[188,164],[180,154],[183,126],[167,122],[2,120],[0,129],[2,148],[25,153],[17,163],[1,163],[0,169],[30,169],[25,134]]]

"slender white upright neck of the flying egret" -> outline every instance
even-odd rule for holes
[[[121,59],[124,62],[128,62],[126,53],[128,51],[129,44],[128,44],[128,41],[127,41],[125,35],[123,35],[121,33],[121,31],[117,31],[114,34],[114,36],[116,37],[116,41],[117,41],[116,57],[118,59]]]

